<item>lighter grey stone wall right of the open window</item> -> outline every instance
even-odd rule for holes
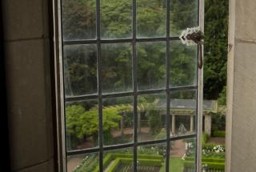
[[[255,0],[230,0],[226,172],[256,170],[255,9]]]

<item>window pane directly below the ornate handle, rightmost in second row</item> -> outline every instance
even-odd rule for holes
[[[170,86],[194,86],[197,77],[196,46],[170,42]]]

